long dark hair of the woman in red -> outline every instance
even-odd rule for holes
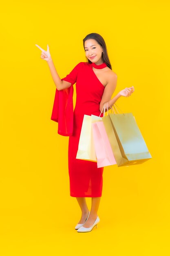
[[[99,34],[97,33],[91,33],[91,34],[88,34],[84,39],[83,39],[83,46],[84,46],[84,43],[86,40],[88,39],[95,39],[97,41],[97,43],[99,45],[102,46],[103,48],[103,53],[102,53],[102,60],[106,63],[106,65],[112,70],[112,66],[110,64],[110,61],[109,61],[109,58],[108,58],[108,52],[107,52],[107,47],[106,47],[106,43],[104,41],[104,39],[102,38],[102,36],[100,36]],[[85,48],[84,48],[85,50]],[[87,57],[86,57],[86,61],[88,63],[92,63]]]

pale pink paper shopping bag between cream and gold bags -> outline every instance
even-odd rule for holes
[[[92,123],[97,168],[116,164],[103,121]]]

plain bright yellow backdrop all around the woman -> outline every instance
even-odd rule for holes
[[[167,0],[1,1],[0,255],[169,255],[170,41]],[[117,105],[132,112],[152,159],[104,168],[98,229],[80,234],[70,196],[68,137],[51,120],[55,85],[86,61],[83,38],[106,41]],[[75,98],[74,98],[75,100]],[[89,209],[91,198],[87,198]]]

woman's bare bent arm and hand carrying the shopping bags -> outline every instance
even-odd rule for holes
[[[132,92],[135,91],[134,87],[129,87],[129,88],[125,88],[124,90],[121,90],[120,92],[118,92],[118,94],[113,97],[113,99],[111,99],[113,92],[115,92],[116,89],[116,85],[117,85],[117,74],[112,74],[109,79],[108,79],[108,83],[106,85],[106,87],[104,88],[104,93],[102,96],[102,100],[100,102],[100,111],[102,111],[104,104],[108,103],[108,109],[110,109],[110,106],[112,107],[113,104],[115,104],[115,102],[121,97],[129,97]],[[110,105],[110,106],[109,106]],[[105,110],[107,111],[107,110]]]

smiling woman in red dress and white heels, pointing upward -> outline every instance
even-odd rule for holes
[[[102,196],[104,168],[97,168],[96,162],[76,159],[83,117],[84,114],[99,116],[104,104],[113,106],[119,97],[129,97],[134,92],[134,87],[121,90],[111,99],[117,85],[117,74],[112,71],[104,39],[97,33],[91,33],[83,39],[83,45],[86,62],[78,63],[70,74],[62,79],[55,70],[49,46],[47,45],[47,51],[36,46],[42,51],[41,58],[49,65],[58,91],[68,89],[76,83],[73,135],[69,137],[68,144],[70,195],[76,197],[82,210],[82,216],[75,229],[78,232],[89,232],[93,227],[97,227],[99,222],[97,211]],[[91,211],[88,210],[86,197],[92,198]]]

